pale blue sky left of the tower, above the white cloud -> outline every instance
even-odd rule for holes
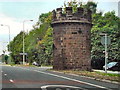
[[[2,2],[0,12],[18,19],[38,17],[40,13],[47,13],[55,7],[61,6],[53,2]]]

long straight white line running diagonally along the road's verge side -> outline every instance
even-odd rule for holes
[[[22,67],[19,67],[19,68],[25,69],[25,70],[30,70],[30,69],[26,69],[26,68],[22,68]],[[90,85],[90,86],[94,86],[94,87],[97,87],[97,88],[104,88],[104,89],[112,90],[112,89],[107,88],[107,87],[104,87],[104,86],[95,85],[95,84],[92,84],[92,83],[88,83],[88,82],[84,82],[84,81],[79,81],[79,80],[77,80],[77,79],[72,79],[72,78],[68,78],[68,77],[64,77],[64,76],[59,76],[59,75],[56,75],[56,74],[46,73],[46,72],[42,72],[42,71],[38,71],[38,70],[31,70],[31,71],[40,72],[40,73],[43,73],[43,74],[47,74],[47,75],[51,75],[51,76],[55,76],[55,77],[67,79],[67,80],[70,80],[70,81],[75,81],[75,82],[79,82],[79,83],[84,83],[84,84],[87,84],[87,85]]]

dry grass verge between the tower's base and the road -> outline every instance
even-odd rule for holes
[[[89,72],[89,71],[52,70],[52,69],[50,69],[50,71],[62,72],[64,74],[75,74],[79,76],[87,76],[87,77],[92,77],[96,80],[109,80],[109,81],[116,81],[120,83],[120,74],[109,74],[109,73],[102,73],[98,71]]]

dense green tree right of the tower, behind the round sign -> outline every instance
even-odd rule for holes
[[[106,32],[111,37],[111,44],[108,47],[109,62],[120,60],[118,51],[118,23],[119,18],[115,16],[115,12],[107,12],[104,15],[102,13],[93,14],[93,27],[91,30],[91,44],[92,44],[92,60],[101,61],[102,66],[104,65],[104,46],[101,44],[100,33]],[[99,64],[100,65],[100,64]]]

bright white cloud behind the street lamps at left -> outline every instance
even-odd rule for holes
[[[20,31],[23,30],[23,21],[17,21],[16,18],[8,17],[4,14],[0,14],[0,24],[9,25],[10,26],[10,34],[11,36],[17,35]],[[29,22],[25,23],[25,30],[31,30],[32,24]],[[0,35],[8,35],[9,29],[6,26],[0,26]]]

